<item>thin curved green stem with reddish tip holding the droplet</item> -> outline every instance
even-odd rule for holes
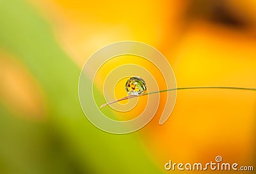
[[[244,88],[244,87],[177,87],[173,89],[164,89],[161,91],[148,92],[140,96],[146,96],[146,95],[157,94],[157,93],[168,92],[168,91],[185,90],[185,89],[236,89],[236,90],[256,91],[256,88]],[[100,108],[103,108],[104,106],[107,106],[107,105],[111,105],[112,103],[116,103],[118,101],[130,99],[130,98],[138,98],[140,96],[127,96],[124,98],[116,99],[115,101],[111,101],[109,103],[105,103],[104,105],[101,105]]]

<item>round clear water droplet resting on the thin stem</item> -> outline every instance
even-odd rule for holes
[[[133,76],[125,83],[125,90],[130,96],[139,96],[147,90],[145,80],[139,76]]]

